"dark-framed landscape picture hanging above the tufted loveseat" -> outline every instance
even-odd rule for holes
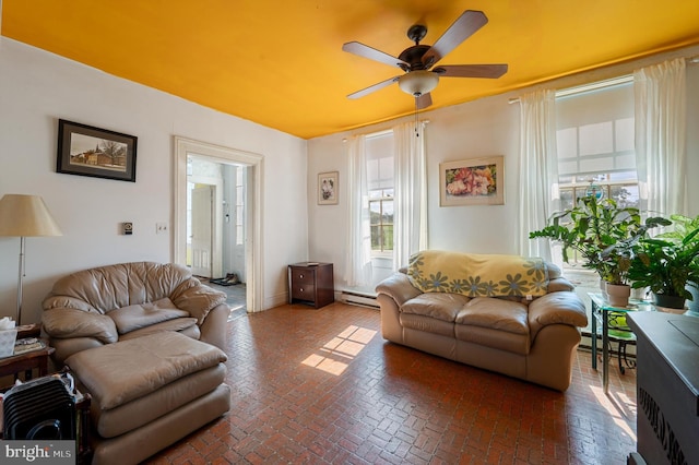
[[[138,138],[58,120],[56,172],[135,182]]]

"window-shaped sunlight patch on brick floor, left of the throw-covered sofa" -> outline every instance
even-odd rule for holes
[[[374,330],[350,325],[320,347],[318,354],[311,354],[301,363],[331,374],[342,374],[376,333]]]

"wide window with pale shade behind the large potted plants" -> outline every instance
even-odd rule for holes
[[[558,95],[560,207],[570,208],[590,194],[614,199],[619,206],[638,207],[633,83],[627,80],[590,92]]]

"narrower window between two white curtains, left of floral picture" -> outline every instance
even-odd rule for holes
[[[393,132],[366,139],[372,255],[393,251]]]

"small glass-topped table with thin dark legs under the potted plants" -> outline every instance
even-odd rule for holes
[[[589,293],[590,300],[592,301],[592,369],[597,369],[597,324],[602,322],[602,388],[606,394],[609,391],[609,318],[616,315],[618,318],[621,314],[632,311],[654,311],[650,302],[641,300],[630,300],[629,307],[612,307],[607,299],[600,293]],[[624,337],[625,341],[631,341],[633,332],[630,327],[614,326],[614,331],[620,333],[628,333],[629,337]]]

